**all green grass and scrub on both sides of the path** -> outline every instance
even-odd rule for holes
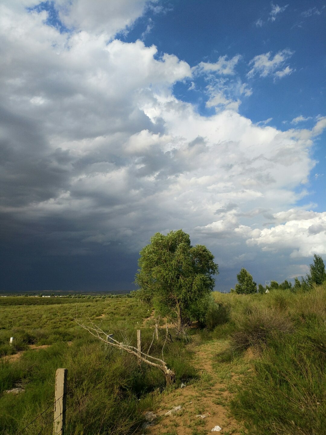
[[[245,433],[324,434],[325,286],[298,294],[277,290],[214,297],[217,319],[207,318],[208,327],[190,329],[187,338],[173,336],[164,345],[165,360],[176,371],[176,387],[194,382],[202,390],[210,388],[212,380],[204,382],[193,358],[200,345],[216,341],[223,351],[213,355],[214,379],[224,380],[233,393],[228,403],[216,398],[216,404],[223,402]],[[68,369],[66,435],[143,433],[143,412],[155,411],[162,394],[169,394],[163,374],[103,345],[74,318],[86,315],[103,331],[133,345],[136,329],[141,329],[146,350],[153,338],[151,312],[151,307],[126,297],[0,298],[0,433],[52,434],[59,367]],[[153,341],[152,355],[162,356],[164,341],[161,333]],[[248,351],[253,355],[249,362],[244,359]],[[15,354],[16,359],[10,356]],[[235,370],[241,374],[236,382],[230,375]],[[17,387],[24,391],[6,392]]]

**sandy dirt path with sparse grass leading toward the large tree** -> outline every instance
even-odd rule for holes
[[[156,411],[159,416],[156,424],[148,427],[144,433],[206,435],[215,426],[220,426],[220,434],[240,435],[241,427],[231,417],[227,402],[237,379],[243,371],[248,370],[248,365],[246,362],[238,367],[214,365],[216,354],[226,345],[225,341],[212,341],[193,348],[196,355],[194,365],[199,370],[200,380],[163,396],[161,408]],[[165,415],[180,405],[180,410]]]

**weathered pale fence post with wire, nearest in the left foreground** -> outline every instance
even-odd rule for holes
[[[56,371],[53,435],[64,435],[66,424],[67,368]]]

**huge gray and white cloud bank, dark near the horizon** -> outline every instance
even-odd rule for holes
[[[178,228],[213,251],[222,290],[243,266],[285,279],[326,253],[325,213],[295,207],[325,118],[282,132],[200,116],[173,96],[186,62],[113,39],[145,1],[113,1],[116,20],[57,1],[70,33],[25,3],[0,6],[0,290],[133,288],[138,251]]]

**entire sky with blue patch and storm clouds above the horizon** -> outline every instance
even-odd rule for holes
[[[234,287],[326,261],[326,3],[0,1],[0,291],[133,290],[182,228]]]

